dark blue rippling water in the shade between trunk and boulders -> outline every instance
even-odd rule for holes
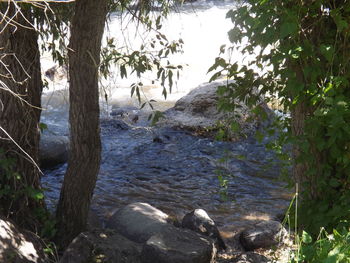
[[[156,139],[155,139],[156,138]],[[93,207],[102,217],[125,204],[148,202],[178,217],[203,208],[224,228],[274,217],[288,205],[272,153],[254,139],[218,142],[185,131],[126,127],[102,121],[102,164]],[[218,159],[229,156],[221,164]],[[48,171],[43,184],[51,205],[66,165]],[[229,174],[225,198],[216,170]]]

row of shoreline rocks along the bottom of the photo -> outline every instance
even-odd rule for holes
[[[36,235],[4,218],[0,224],[0,262],[48,261],[45,243]],[[189,212],[179,222],[147,203],[132,203],[117,210],[104,228],[90,224],[90,230],[72,241],[59,262],[286,262],[286,258],[262,254],[272,248],[288,252],[289,245],[289,234],[278,221],[261,221],[227,239],[203,209]]]

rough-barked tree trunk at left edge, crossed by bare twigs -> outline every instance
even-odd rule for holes
[[[2,10],[7,7],[7,3],[0,6]],[[22,7],[22,14],[27,21],[32,21],[30,6]],[[1,195],[0,212],[21,225],[34,228],[37,224],[33,216],[34,209],[44,208],[43,200],[28,197],[28,194],[34,197],[34,191],[31,190],[40,189],[40,171],[34,162],[38,162],[43,84],[38,34],[30,29],[31,25],[22,15],[15,15],[15,11],[11,5],[8,17],[14,17],[17,27],[6,26],[5,21],[0,25],[0,126],[13,139],[3,130],[0,131],[0,148],[4,150],[0,159],[13,158],[14,172],[20,177],[16,178],[11,173],[6,176],[0,167],[1,190],[6,186],[11,188],[10,192]]]

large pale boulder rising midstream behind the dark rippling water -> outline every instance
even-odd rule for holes
[[[231,138],[239,137],[239,134],[228,128],[230,127],[228,120],[231,118],[240,124],[240,134],[246,136],[254,134],[261,125],[261,121],[256,118],[246,104],[236,101],[239,107],[236,107],[235,113],[221,112],[217,109],[219,99],[216,93],[217,88],[226,84],[226,81],[204,83],[193,89],[179,99],[173,108],[164,112],[165,119],[160,120],[158,125],[179,127],[190,131],[204,131],[204,133],[211,131],[215,134],[215,127],[217,127],[218,122],[221,122],[222,126],[227,127]],[[272,111],[268,109],[266,104],[262,103],[261,105],[264,111],[272,115]]]

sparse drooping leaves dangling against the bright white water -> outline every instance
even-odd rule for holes
[[[131,47],[121,47],[120,43],[114,37],[107,37],[106,45],[101,51],[101,64],[99,65],[100,74],[108,79],[111,74],[115,74],[114,67],[117,68],[121,78],[128,78],[130,75],[137,77],[138,82],[131,84],[131,97],[136,96],[140,108],[146,105],[152,110],[149,116],[151,124],[154,125],[162,114],[156,111],[153,106],[153,99],[149,99],[143,92],[144,83],[142,77],[146,73],[157,72],[149,84],[159,84],[162,88],[162,95],[166,99],[168,92],[172,92],[176,79],[180,76],[182,65],[173,65],[168,57],[175,53],[182,52],[182,39],[169,41],[165,34],[161,32],[162,16],[151,19],[149,16],[140,16],[139,22],[145,26],[148,35],[153,35],[143,41],[137,50]],[[105,92],[105,99],[108,101],[108,95]]]

